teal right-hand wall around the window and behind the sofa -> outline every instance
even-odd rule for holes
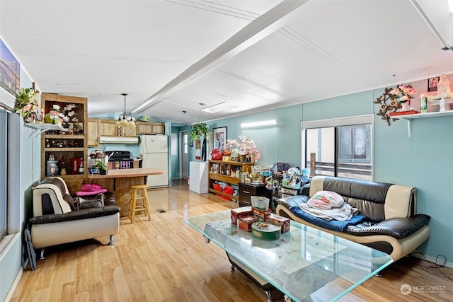
[[[422,87],[425,82],[415,82],[413,86]],[[421,89],[417,91],[423,93]],[[452,262],[453,243],[452,240],[445,239],[453,232],[450,217],[453,213],[453,157],[449,156],[453,150],[453,116],[414,120],[412,136],[408,137],[406,120],[396,120],[389,126],[376,115],[379,107],[373,102],[382,93],[384,88],[215,120],[207,122],[207,125],[211,131],[213,127],[226,126],[228,138],[237,139],[237,136],[243,133],[240,128],[242,122],[275,119],[278,123],[277,139],[269,136],[266,141],[257,141],[257,144],[263,146],[263,149],[260,149],[262,158],[258,164],[267,167],[275,161],[287,161],[292,166],[300,166],[301,122],[374,115],[374,180],[417,187],[418,213],[431,216],[431,236],[418,251],[430,257],[445,255],[447,261]],[[418,102],[419,99],[412,101]],[[268,129],[263,128],[260,131],[266,132]],[[267,146],[275,144],[276,153],[266,153]],[[194,153],[191,153],[191,156],[191,160],[194,160]]]

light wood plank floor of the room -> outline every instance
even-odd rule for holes
[[[25,269],[11,301],[266,301],[256,284],[238,270],[230,272],[222,249],[205,244],[184,221],[236,203],[196,194],[185,181],[149,190],[149,199],[151,221],[122,219],[113,246],[105,245],[106,236],[47,248],[35,271]],[[453,301],[453,283],[425,272],[418,262],[403,258],[341,301]],[[452,277],[452,269],[445,272]],[[403,284],[445,288],[403,295]],[[273,298],[284,300],[278,291]]]

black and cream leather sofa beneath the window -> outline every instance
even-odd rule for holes
[[[323,221],[306,219],[298,204],[306,203],[319,191],[340,194],[345,202],[359,209],[359,214],[366,216],[365,221],[344,231],[334,231],[326,228]],[[430,236],[430,216],[417,214],[416,188],[385,182],[315,176],[308,195],[278,199],[276,214],[381,250],[394,261],[413,252]]]

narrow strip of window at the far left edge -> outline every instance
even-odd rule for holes
[[[6,192],[6,112],[0,109],[0,239],[6,235],[8,223]]]

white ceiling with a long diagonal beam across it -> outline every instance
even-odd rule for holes
[[[0,0],[0,37],[88,115],[180,124],[453,73],[447,0]]]

